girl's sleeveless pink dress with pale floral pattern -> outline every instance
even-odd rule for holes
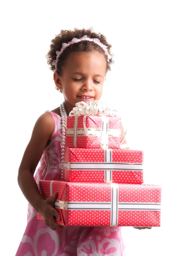
[[[43,151],[35,180],[61,179],[61,117],[54,117],[54,137]],[[28,223],[16,256],[122,256],[121,227],[64,227],[51,230],[28,206]]]

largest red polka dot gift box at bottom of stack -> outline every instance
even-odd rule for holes
[[[39,186],[45,198],[58,192],[56,222],[62,226],[160,226],[158,185],[40,180]]]

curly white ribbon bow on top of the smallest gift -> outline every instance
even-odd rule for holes
[[[107,107],[106,103],[101,102],[99,100],[95,100],[93,102],[78,102],[76,103],[76,107],[70,111],[69,116],[116,116],[117,111],[111,110]]]

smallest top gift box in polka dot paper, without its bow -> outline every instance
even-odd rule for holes
[[[67,148],[120,148],[120,137],[118,116],[67,117]]]

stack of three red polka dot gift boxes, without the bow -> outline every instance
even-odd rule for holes
[[[58,192],[58,224],[160,226],[161,186],[143,184],[143,151],[120,138],[118,116],[67,117],[62,180],[39,182],[45,198]]]

